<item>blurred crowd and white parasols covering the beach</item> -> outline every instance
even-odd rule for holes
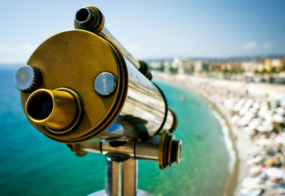
[[[257,97],[247,89],[237,91],[187,77],[167,80],[207,97],[225,118],[234,140],[247,143],[246,151],[237,152],[246,153],[248,170],[238,195],[285,195],[285,100]]]

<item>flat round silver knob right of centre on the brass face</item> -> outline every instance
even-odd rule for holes
[[[116,85],[117,78],[109,72],[100,73],[94,81],[95,92],[100,97],[108,97],[114,92]]]

